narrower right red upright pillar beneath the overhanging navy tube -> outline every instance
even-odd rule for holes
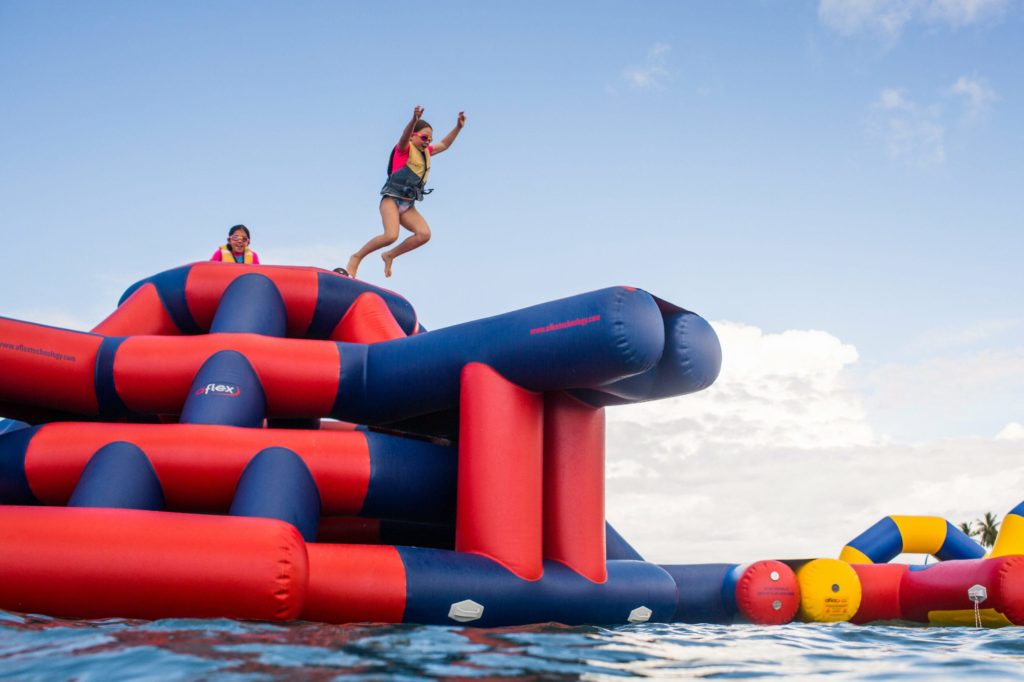
[[[604,550],[604,410],[563,393],[544,401],[544,556],[595,583]]]

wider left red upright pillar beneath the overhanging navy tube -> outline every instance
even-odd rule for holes
[[[462,370],[456,550],[536,581],[542,563],[544,398],[486,365]]]

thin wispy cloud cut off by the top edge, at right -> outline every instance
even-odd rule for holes
[[[911,23],[962,28],[998,16],[1007,0],[820,0],[818,18],[845,35],[895,41]]]

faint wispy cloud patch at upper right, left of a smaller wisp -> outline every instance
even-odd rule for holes
[[[920,168],[945,162],[945,126],[941,109],[922,106],[897,88],[886,88],[871,105],[868,132],[894,161]]]

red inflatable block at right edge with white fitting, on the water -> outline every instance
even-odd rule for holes
[[[1024,555],[994,559],[942,561],[924,570],[910,570],[900,586],[903,617],[920,623],[942,622],[939,612],[971,611],[968,590],[975,585],[987,595],[979,604],[1006,616],[1013,625],[1024,625]]]

